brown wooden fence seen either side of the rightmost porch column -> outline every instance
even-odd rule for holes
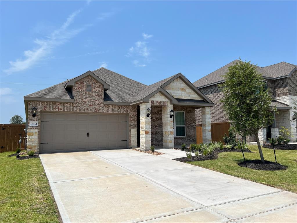
[[[211,123],[211,141],[223,141],[223,136],[228,135],[230,128],[229,122]],[[202,125],[196,126],[196,143],[203,143],[202,141]]]

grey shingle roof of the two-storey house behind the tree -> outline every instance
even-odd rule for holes
[[[195,81],[193,84],[195,87],[200,88],[205,85],[210,85],[216,82],[222,82],[224,78],[222,77],[228,71],[228,67],[232,66],[238,60],[234,60],[229,64],[217,69],[216,71],[200,78],[199,80]],[[279,78],[282,76],[289,75],[290,72],[297,66],[294,64],[289,64],[286,62],[280,62],[278,64],[273,64],[267,67],[259,67],[256,66],[257,70],[263,75],[263,77],[269,78]]]

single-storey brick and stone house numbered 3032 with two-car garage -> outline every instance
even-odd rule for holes
[[[39,153],[195,143],[197,108],[203,140],[211,141],[214,104],[181,73],[147,86],[100,68],[24,101],[27,149]]]

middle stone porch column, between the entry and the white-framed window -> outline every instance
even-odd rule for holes
[[[174,148],[173,117],[170,118],[171,110],[173,110],[173,105],[162,107],[163,148]]]

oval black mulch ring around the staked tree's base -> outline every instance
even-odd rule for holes
[[[247,164],[248,168],[254,170],[285,170],[287,169],[286,166],[283,166],[279,163],[265,161],[262,163],[261,160],[247,160],[245,162],[238,163],[241,167],[246,167],[245,163]]]

